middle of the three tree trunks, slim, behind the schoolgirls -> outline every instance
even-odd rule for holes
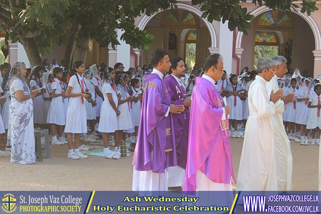
[[[76,20],[74,20],[72,28],[70,30],[69,40],[66,46],[64,62],[63,62],[63,66],[68,71],[71,69],[72,53],[73,53],[73,50],[75,49],[76,35],[78,31],[79,31],[79,23]]]

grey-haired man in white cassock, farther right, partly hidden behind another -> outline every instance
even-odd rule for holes
[[[270,94],[272,90],[277,91],[278,78],[282,78],[287,72],[287,60],[283,56],[275,56],[272,60],[276,63],[275,75],[271,81],[266,84],[266,89]],[[273,134],[274,134],[274,151],[276,159],[276,169],[278,176],[278,190],[291,191],[292,190],[292,153],[290,148],[290,141],[286,135],[282,113],[285,111],[284,105],[295,98],[295,94],[290,93],[283,96],[275,103],[275,114],[272,115]]]

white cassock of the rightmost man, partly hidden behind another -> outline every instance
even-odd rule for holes
[[[272,90],[279,90],[278,76],[274,75],[269,83],[266,83],[266,89],[271,94]],[[280,99],[275,103],[275,114],[272,115],[274,150],[276,159],[276,168],[278,175],[278,191],[292,190],[292,153],[290,141],[286,135],[283,125],[283,115],[285,112],[284,102]]]

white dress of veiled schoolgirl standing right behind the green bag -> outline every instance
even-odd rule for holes
[[[117,90],[121,94],[121,100],[128,97],[123,86],[120,84],[117,86]],[[132,128],[131,116],[129,112],[129,102],[124,102],[118,105],[120,115],[117,116],[116,130],[126,130]]]

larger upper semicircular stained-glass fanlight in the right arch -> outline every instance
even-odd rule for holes
[[[290,18],[281,11],[268,11],[261,15],[258,25],[291,26]]]

